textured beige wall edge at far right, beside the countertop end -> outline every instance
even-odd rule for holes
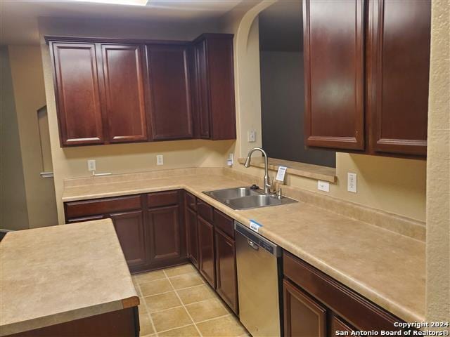
[[[449,1],[432,1],[426,246],[429,322],[450,321],[449,32]]]

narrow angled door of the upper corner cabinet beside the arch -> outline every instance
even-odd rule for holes
[[[210,98],[208,92],[206,41],[194,45],[195,108],[198,115],[200,138],[210,139]]]

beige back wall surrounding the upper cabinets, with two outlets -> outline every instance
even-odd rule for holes
[[[141,143],[61,148],[58,138],[55,95],[49,46],[45,35],[79,37],[115,37],[124,39],[192,40],[203,32],[214,32],[215,22],[195,24],[162,24],[158,22],[131,22],[111,20],[40,19],[41,55],[49,114],[49,128],[56,201],[59,223],[64,222],[63,180],[89,176],[87,159],[96,159],[98,172],[127,173],[153,169],[174,169],[192,166],[224,166],[233,141],[182,140],[163,143]],[[156,166],[156,154],[164,155],[164,166]]]

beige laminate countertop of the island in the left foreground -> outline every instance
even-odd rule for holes
[[[110,219],[9,232],[0,272],[0,336],[139,304]]]

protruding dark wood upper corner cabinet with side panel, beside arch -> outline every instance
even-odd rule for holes
[[[236,138],[233,34],[203,34],[193,42],[195,116],[200,138]]]

